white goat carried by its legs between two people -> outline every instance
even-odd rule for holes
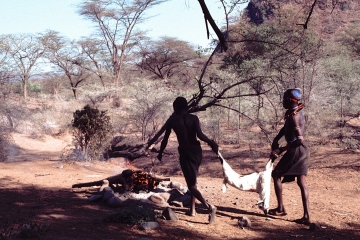
[[[267,215],[270,207],[270,184],[271,172],[273,169],[272,160],[269,159],[265,166],[265,170],[262,172],[240,175],[230,167],[220,152],[218,152],[218,156],[224,173],[221,190],[225,192],[227,188],[226,184],[229,184],[239,190],[257,192],[260,196],[260,200],[256,205],[258,205],[259,208],[264,211],[265,215]]]

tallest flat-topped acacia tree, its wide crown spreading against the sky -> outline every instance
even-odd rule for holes
[[[137,24],[145,10],[166,0],[85,0],[79,13],[97,24],[99,34],[111,56],[113,81],[119,86],[126,55],[137,43]]]

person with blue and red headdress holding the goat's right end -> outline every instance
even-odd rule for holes
[[[309,193],[306,185],[310,153],[303,138],[305,121],[303,112],[301,111],[304,105],[299,103],[301,97],[302,94],[298,88],[288,89],[283,96],[283,107],[287,109],[285,113],[285,124],[274,138],[271,145],[272,152],[270,157],[274,161],[279,154],[285,151],[286,153],[272,172],[278,206],[275,209],[271,209],[269,214],[276,216],[286,215],[282,199],[282,182],[295,181],[296,177],[297,184],[301,190],[304,214],[302,218],[295,220],[295,222],[310,225]],[[287,145],[285,147],[279,147],[278,141],[283,136],[285,136]],[[282,181],[281,177],[284,177]]]

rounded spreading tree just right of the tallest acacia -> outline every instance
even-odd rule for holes
[[[188,42],[170,37],[140,44],[138,54],[141,59],[137,66],[158,79],[187,76],[187,69],[193,67],[193,60],[198,57]]]

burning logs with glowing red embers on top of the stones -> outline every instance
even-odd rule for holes
[[[103,185],[104,180],[107,180],[109,182],[109,186],[113,189],[116,189],[116,185],[121,185],[124,191],[138,192],[141,190],[152,191],[159,185],[160,182],[170,181],[170,178],[159,178],[141,170],[126,169],[121,174],[117,174],[103,180],[74,184],[72,185],[72,188],[101,186]]]

